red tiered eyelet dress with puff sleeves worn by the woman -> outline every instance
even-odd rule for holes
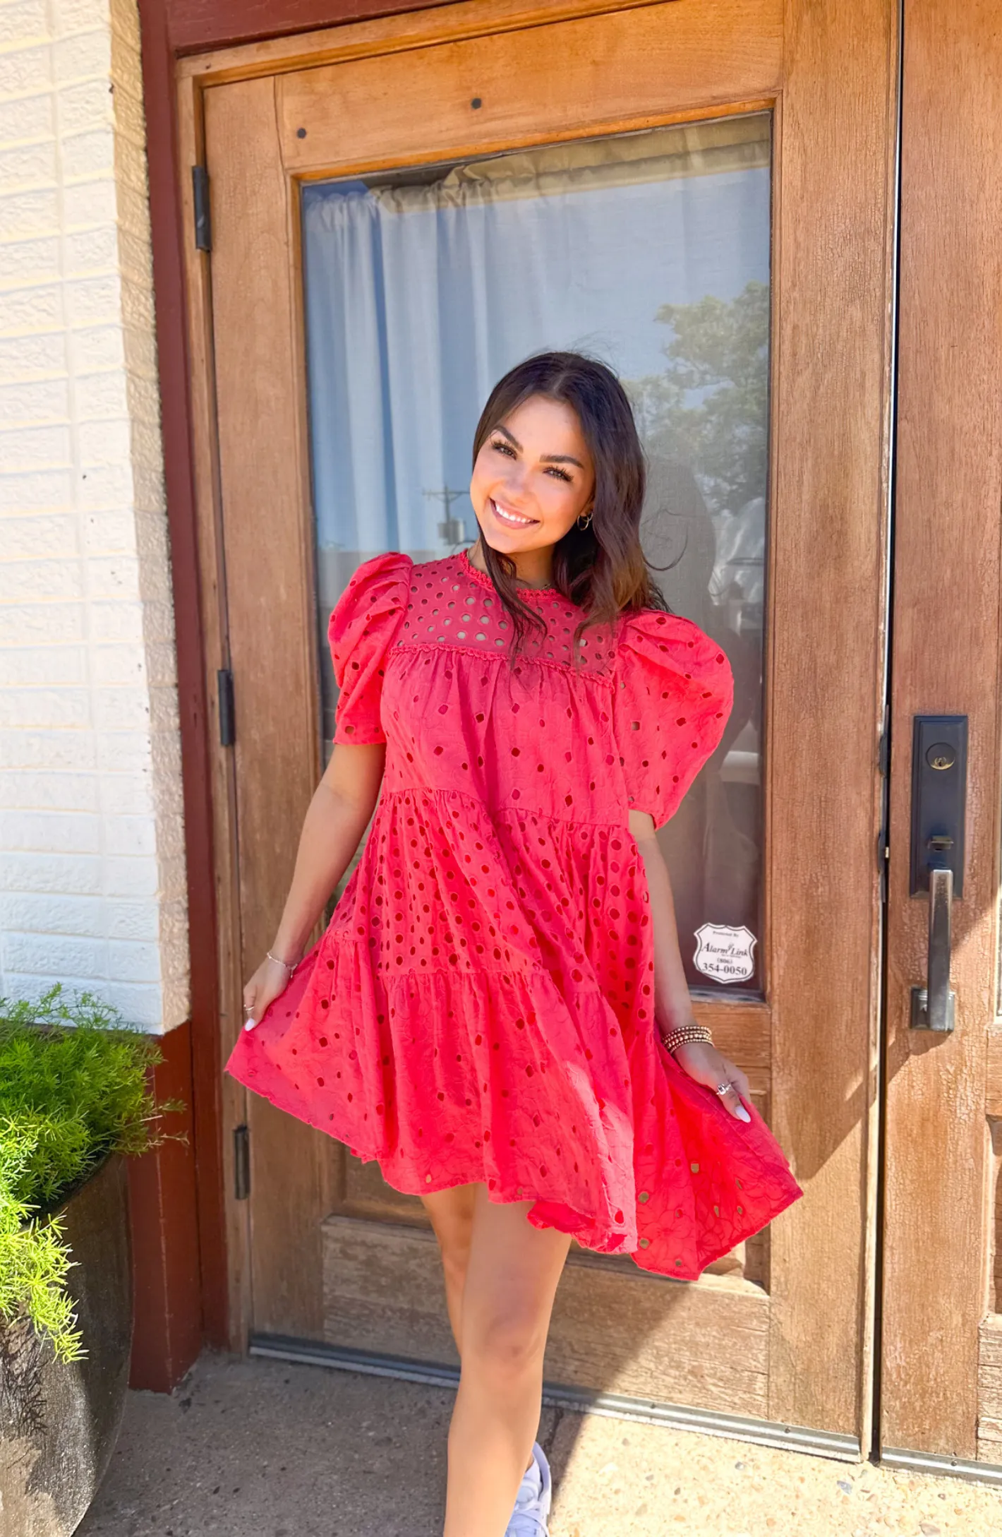
[[[719,742],[732,675],[695,624],[615,633],[526,590],[510,621],[466,553],[358,567],[330,616],[335,742],[386,742],[330,925],[227,1071],[377,1159],[400,1191],[483,1180],[529,1220],[695,1279],[801,1194],[659,1042],[632,807],[661,825]]]

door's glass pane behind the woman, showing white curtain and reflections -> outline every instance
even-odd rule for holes
[[[327,750],[326,619],[358,563],[472,544],[493,383],[549,347],[604,358],[650,460],[649,561],[735,669],[724,741],[661,833],[690,982],[712,991],[696,930],[761,936],[768,168],[752,114],[303,192]]]

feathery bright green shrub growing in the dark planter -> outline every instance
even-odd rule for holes
[[[163,1139],[149,1070],[157,1045],[89,993],[0,999],[0,1317],[28,1316],[63,1360],[80,1356],[52,1216],[111,1153]]]

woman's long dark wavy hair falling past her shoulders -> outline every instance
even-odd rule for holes
[[[595,466],[595,500],[587,529],[572,523],[553,546],[553,586],[584,610],[578,639],[592,626],[612,626],[621,613],[669,610],[647,567],[639,539],[647,464],[627,393],[604,363],[581,352],[539,352],[498,380],[473,435],[473,463],[489,435],[533,395],[570,406]],[[487,573],[513,627],[512,655],[530,627],[546,632],[536,609],[518,595],[516,564],[483,535]]]

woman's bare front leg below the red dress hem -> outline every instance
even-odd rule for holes
[[[504,1537],[539,1425],[542,1353],[570,1239],[476,1187],[444,1537]]]

